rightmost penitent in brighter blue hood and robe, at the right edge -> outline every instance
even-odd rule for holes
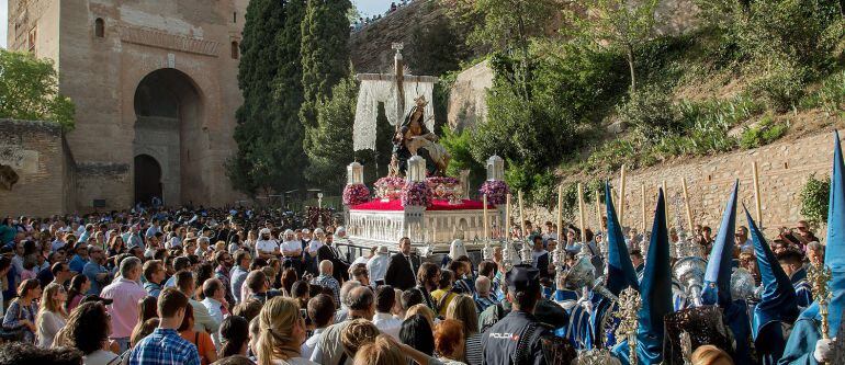
[[[836,337],[845,309],[845,164],[842,160],[840,134],[834,132],[833,172],[831,174],[831,196],[827,207],[827,239],[824,252],[824,265],[831,267],[833,278],[830,290],[833,294],[827,304],[827,322],[831,338]],[[815,343],[821,340],[821,316],[819,305],[813,303],[798,317],[792,333],[787,341],[784,357],[779,364],[816,364],[813,357]]]

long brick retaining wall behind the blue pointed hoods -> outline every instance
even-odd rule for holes
[[[724,204],[735,179],[740,180],[737,226],[747,226],[742,213],[744,203],[756,219],[754,208],[754,185],[752,162],[757,162],[760,181],[763,206],[763,226],[767,235],[776,233],[780,226],[795,227],[801,219],[800,193],[811,174],[823,178],[830,174],[833,159],[833,137],[831,133],[804,137],[764,146],[747,151],[737,151],[710,158],[684,160],[683,162],[666,163],[647,169],[627,172],[623,225],[641,229],[642,205],[641,186],[645,186],[646,224],[651,230],[654,205],[656,204],[657,187],[666,182],[669,206],[669,225],[674,226],[678,215],[686,225],[683,201],[680,198],[681,182],[686,178],[692,220],[695,224],[709,225],[713,231],[718,229]],[[619,173],[612,176],[612,183],[619,187]],[[592,192],[590,192],[592,193]],[[617,202],[619,207],[619,202]],[[677,212],[676,207],[680,208]],[[604,207],[602,207],[604,209]],[[527,209],[528,210],[528,209]],[[588,227],[595,227],[595,205],[586,212]],[[554,220],[547,209],[539,208],[527,212],[527,219],[536,221]],[[816,236],[823,237],[820,229]]]

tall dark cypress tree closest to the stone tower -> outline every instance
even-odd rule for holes
[[[289,161],[278,160],[273,149],[279,119],[273,82],[280,67],[275,41],[284,22],[281,1],[254,0],[247,7],[238,65],[244,104],[235,114],[238,151],[227,162],[227,174],[235,189],[248,194],[298,186],[301,180],[296,176],[300,167],[285,166]]]

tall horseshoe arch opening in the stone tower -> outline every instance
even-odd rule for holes
[[[155,70],[145,76],[135,89],[134,107],[134,155],[149,156],[160,166],[159,196],[164,204],[182,205],[202,201],[201,161],[205,151],[195,147],[205,145],[202,142],[204,105],[196,83],[177,69]],[[192,147],[195,149],[193,153]],[[137,159],[135,163],[138,163]],[[134,171],[138,172],[137,166]],[[136,175],[136,201],[138,184],[147,184],[138,179]]]

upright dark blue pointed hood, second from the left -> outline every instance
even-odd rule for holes
[[[669,236],[666,228],[666,203],[663,190],[657,195],[654,226],[640,284],[642,307],[638,317],[638,353],[643,364],[658,364],[663,357],[663,317],[673,312]]]

